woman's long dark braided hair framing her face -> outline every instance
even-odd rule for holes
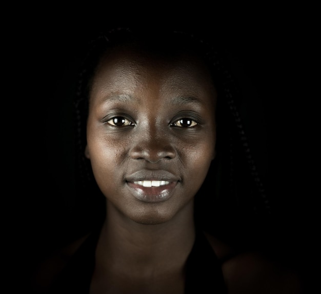
[[[162,44],[159,50],[172,50],[179,42],[188,45],[184,50],[197,50],[209,66],[217,90],[217,143],[216,157],[203,186],[195,196],[195,217],[208,226],[216,217],[244,217],[245,215],[267,215],[270,203],[259,177],[242,119],[239,114],[240,91],[235,83],[228,63],[213,40],[205,40],[195,33],[183,30],[155,30],[140,28],[116,28],[99,32],[89,42],[89,49],[79,68],[74,99],[76,178],[79,192],[91,203],[105,200],[95,183],[90,161],[85,158],[86,123],[88,115],[91,79],[99,58],[107,48],[122,43],[147,40]],[[157,46],[155,46],[156,48]],[[182,48],[182,47],[179,47]],[[179,49],[178,48],[178,49]],[[153,48],[154,49],[154,48]],[[215,185],[213,185],[215,183]],[[214,187],[214,189],[213,189]],[[95,199],[97,200],[95,202]]]

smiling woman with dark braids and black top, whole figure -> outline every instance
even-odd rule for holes
[[[211,44],[116,29],[95,39],[79,77],[79,191],[104,210],[41,267],[52,270],[44,292],[299,292],[257,252],[253,220],[269,202]]]

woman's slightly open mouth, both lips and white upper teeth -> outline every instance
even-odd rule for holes
[[[170,199],[179,181],[179,177],[166,171],[138,171],[126,179],[131,194],[146,203]]]

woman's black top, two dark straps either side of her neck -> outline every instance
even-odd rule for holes
[[[50,294],[89,294],[99,233],[100,228],[88,236],[59,275]],[[221,264],[206,236],[199,230],[187,260],[185,293],[227,293]]]

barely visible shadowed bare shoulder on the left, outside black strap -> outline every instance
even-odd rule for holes
[[[45,293],[57,275],[63,270],[71,256],[83,244],[88,235],[78,238],[67,246],[56,250],[43,260],[31,274],[30,287],[34,293]]]

